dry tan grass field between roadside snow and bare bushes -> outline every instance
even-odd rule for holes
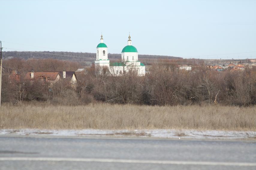
[[[2,105],[0,128],[256,130],[256,107]]]

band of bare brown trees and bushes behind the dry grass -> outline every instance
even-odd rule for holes
[[[136,105],[255,105],[256,68],[244,71],[215,71],[201,68],[182,71],[171,65],[155,65],[150,74],[137,76],[95,75],[91,69],[77,75],[74,87],[68,81],[47,82],[23,78],[2,79],[2,102],[22,103],[42,101],[52,104],[83,105],[90,102],[107,102]]]

